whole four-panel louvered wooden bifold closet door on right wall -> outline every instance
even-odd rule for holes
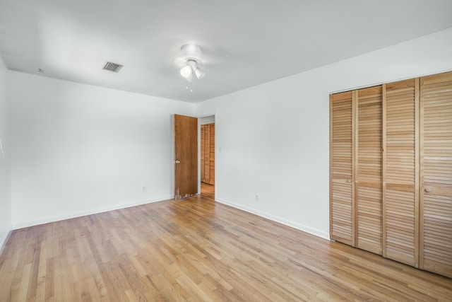
[[[330,97],[330,237],[452,277],[452,72]]]

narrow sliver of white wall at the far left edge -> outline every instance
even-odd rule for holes
[[[0,250],[11,231],[11,152],[8,70],[0,58]]]

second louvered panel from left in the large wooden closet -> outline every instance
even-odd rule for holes
[[[355,115],[356,246],[382,254],[381,86],[359,89]]]

